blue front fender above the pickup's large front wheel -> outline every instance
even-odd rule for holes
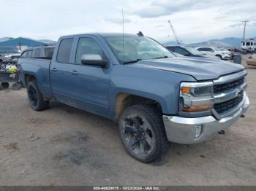
[[[178,97],[181,82],[195,82],[189,75],[157,69],[115,66],[111,74],[110,114],[116,114],[118,93],[138,95],[157,101],[164,114],[178,114]]]

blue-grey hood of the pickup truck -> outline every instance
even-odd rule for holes
[[[217,79],[220,76],[244,69],[244,66],[236,63],[230,63],[217,59],[195,57],[143,60],[130,66],[188,74],[198,81]]]

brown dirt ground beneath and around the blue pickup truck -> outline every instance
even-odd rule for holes
[[[246,68],[246,117],[153,164],[129,157],[110,120],[58,103],[34,112],[26,90],[1,90],[0,185],[256,185],[256,67]]]

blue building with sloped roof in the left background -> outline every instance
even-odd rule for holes
[[[45,42],[39,42],[33,39],[27,39],[23,37],[18,37],[15,39],[7,39],[0,42],[0,47],[18,47],[19,50],[25,50],[27,47],[36,47],[49,45]]]

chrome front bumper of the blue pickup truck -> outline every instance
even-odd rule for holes
[[[249,107],[249,98],[246,95],[244,104],[237,112],[228,117],[217,120],[213,116],[206,117],[178,117],[163,115],[167,139],[179,144],[195,144],[213,139],[220,130],[229,128],[235,123],[241,114]],[[195,138],[195,126],[202,125],[200,136]]]

